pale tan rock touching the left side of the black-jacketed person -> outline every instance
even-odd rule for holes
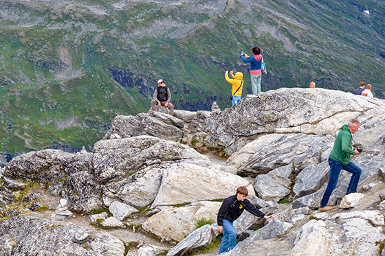
[[[142,227],[160,237],[179,242],[195,230],[197,222],[202,218],[217,222],[221,204],[221,202],[193,202],[185,207],[165,209],[148,218]]]

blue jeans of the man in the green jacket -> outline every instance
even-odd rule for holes
[[[333,190],[337,186],[338,176],[340,176],[340,172],[342,169],[353,174],[350,178],[347,194],[355,193],[355,191],[357,190],[358,181],[360,181],[360,176],[362,172],[360,167],[358,167],[357,165],[351,162],[348,165],[342,165],[342,163],[340,163],[339,161],[333,160],[330,157],[328,161],[330,165],[329,183],[327,183],[327,188],[325,190],[324,196],[322,197],[320,207],[325,207],[327,205],[331,192],[333,192]]]

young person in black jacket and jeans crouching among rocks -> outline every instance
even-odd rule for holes
[[[225,198],[221,208],[219,208],[217,217],[218,231],[223,231],[219,254],[225,253],[235,247],[236,230],[234,229],[234,226],[232,226],[232,223],[241,216],[244,209],[259,218],[265,218],[266,220],[274,218],[273,216],[265,216],[265,213],[259,211],[259,209],[252,205],[252,203],[246,199],[248,194],[248,189],[241,186],[236,189],[236,194],[234,196]]]

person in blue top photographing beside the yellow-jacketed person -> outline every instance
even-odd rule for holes
[[[252,80],[252,92],[253,94],[261,93],[261,76],[266,73],[265,62],[261,55],[261,49],[259,47],[253,47],[253,56],[249,57],[242,51],[241,59],[243,62],[251,63],[250,66],[250,78]]]

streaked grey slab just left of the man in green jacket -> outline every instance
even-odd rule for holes
[[[293,163],[296,169],[303,170],[309,165],[320,163],[321,154],[332,146],[329,145],[331,141],[331,136],[284,135],[258,148],[236,174],[255,177]]]

